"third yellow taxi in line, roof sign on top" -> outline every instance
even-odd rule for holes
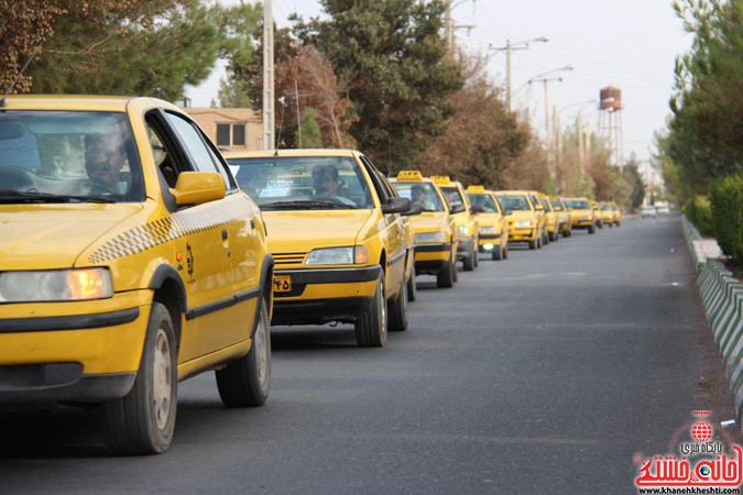
[[[420,215],[411,218],[415,239],[415,274],[436,275],[436,286],[449,288],[457,280],[457,243],[454,213],[441,190],[418,170],[402,170],[390,183],[400,196],[419,205]],[[457,205],[452,211],[465,211]]]

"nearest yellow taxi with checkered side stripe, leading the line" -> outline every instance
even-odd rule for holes
[[[177,382],[269,394],[273,260],[217,147],[153,98],[0,111],[0,403],[98,407],[109,446],[171,444]]]

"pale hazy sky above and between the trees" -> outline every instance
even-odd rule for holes
[[[221,0],[229,4],[239,0]],[[273,0],[278,26],[291,26],[288,14],[320,15],[316,0]],[[600,119],[599,91],[621,90],[622,110],[614,117],[623,138],[624,158],[635,153],[647,162],[653,134],[666,129],[674,91],[674,64],[687,53],[692,37],[682,29],[670,0],[452,0],[455,38],[471,54],[489,56],[488,75],[505,87],[505,53],[490,48],[548,36],[512,51],[512,108],[525,111],[539,134],[545,133],[545,84],[528,84],[544,73],[550,112],[562,127],[575,125],[580,112],[592,131],[608,132],[608,114]],[[572,65],[572,70],[556,70]],[[555,72],[553,72],[555,70]],[[207,81],[187,88],[194,107],[216,99],[221,66]],[[556,80],[561,78],[560,80]],[[591,101],[593,100],[593,101]],[[616,135],[614,133],[614,135]]]

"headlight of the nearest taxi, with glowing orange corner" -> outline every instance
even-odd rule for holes
[[[34,302],[103,299],[113,296],[106,268],[0,273],[0,301]]]

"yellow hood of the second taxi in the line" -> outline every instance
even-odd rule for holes
[[[269,251],[285,253],[353,245],[372,211],[263,211]]]

